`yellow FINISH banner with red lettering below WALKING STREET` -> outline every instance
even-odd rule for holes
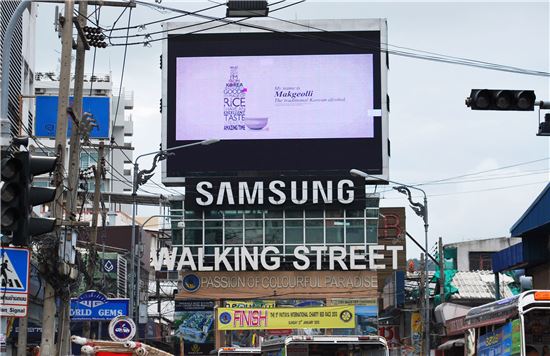
[[[353,329],[353,306],[218,308],[218,330]]]

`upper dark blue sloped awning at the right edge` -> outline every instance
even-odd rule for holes
[[[512,236],[550,231],[550,183],[510,229]]]

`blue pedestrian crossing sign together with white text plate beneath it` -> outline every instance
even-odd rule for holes
[[[27,315],[30,252],[0,247],[0,314],[21,318]]]

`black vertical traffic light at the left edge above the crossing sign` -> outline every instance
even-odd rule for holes
[[[31,237],[53,231],[55,219],[32,217],[32,207],[55,198],[55,188],[33,187],[35,175],[52,172],[55,157],[33,157],[15,152],[2,161],[2,234],[12,235],[12,244],[28,246]]]

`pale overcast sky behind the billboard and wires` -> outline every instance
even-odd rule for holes
[[[153,3],[153,1],[151,1]],[[291,4],[287,0],[284,4]],[[194,11],[211,2],[162,1],[163,5]],[[275,5],[274,7],[283,4]],[[37,23],[36,71],[58,71],[61,45],[53,29],[55,5],[40,4]],[[93,7],[90,7],[90,12]],[[121,9],[103,9],[100,23],[112,26]],[[225,7],[205,14],[221,17]],[[175,16],[140,6],[131,24]],[[312,1],[273,13],[279,18],[354,19],[387,18],[388,43],[416,50],[477,59],[549,72],[549,15],[540,2],[389,2]],[[185,18],[185,20],[191,20]],[[127,26],[128,12],[116,27]],[[147,26],[130,33],[160,30]],[[113,33],[114,34],[114,33]],[[124,35],[125,31],[117,31]],[[153,35],[158,38],[159,35]],[[133,39],[132,39],[133,40]],[[114,41],[114,40],[113,40]],[[117,40],[123,42],[122,39]],[[132,42],[132,41],[131,41]],[[152,47],[130,46],[123,87],[134,91],[134,157],[158,149],[161,137],[161,42]],[[91,72],[92,52],[86,58]],[[97,51],[96,73],[112,72],[120,82],[123,47]],[[438,236],[444,243],[509,236],[510,227],[549,180],[549,138],[535,136],[538,112],[471,111],[464,99],[472,88],[534,89],[537,99],[550,99],[544,76],[513,74],[456,64],[390,56],[388,91],[390,113],[390,178],[406,184],[463,176],[500,167],[508,169],[474,174],[422,186],[428,193],[430,247]],[[544,113],[542,113],[543,116]],[[143,160],[143,167],[150,161]],[[353,167],[350,167],[353,168]],[[154,177],[160,182],[160,171]],[[160,189],[147,187],[150,191]],[[386,188],[382,188],[386,190]],[[165,192],[166,193],[166,192]],[[404,196],[387,192],[382,206],[406,206]],[[158,210],[141,209],[140,214]],[[407,230],[423,241],[423,225],[407,208]],[[408,257],[419,250],[408,243]]]

